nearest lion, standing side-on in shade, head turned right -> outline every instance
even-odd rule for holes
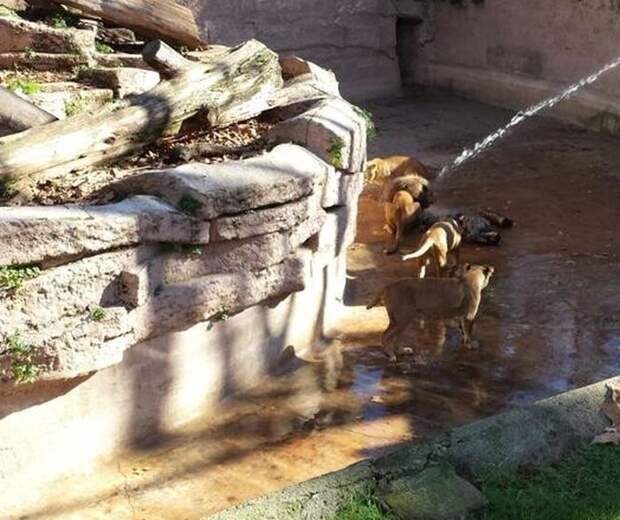
[[[404,278],[385,287],[366,308],[383,300],[390,324],[381,343],[390,360],[396,360],[395,344],[414,318],[458,319],[463,343],[471,346],[482,290],[493,272],[491,266],[465,264],[457,278]]]

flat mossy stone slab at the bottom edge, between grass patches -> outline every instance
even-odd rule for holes
[[[481,509],[486,500],[449,466],[431,467],[390,482],[380,499],[406,520],[454,520]]]

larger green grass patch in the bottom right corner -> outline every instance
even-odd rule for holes
[[[620,446],[593,445],[558,464],[481,490],[490,502],[483,520],[620,520]]]

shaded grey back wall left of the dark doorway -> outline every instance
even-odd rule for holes
[[[257,38],[331,68],[345,97],[392,94],[400,88],[396,17],[385,0],[182,0],[212,43]]]

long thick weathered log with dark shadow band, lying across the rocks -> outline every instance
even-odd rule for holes
[[[229,106],[244,117],[254,117],[281,86],[277,55],[250,40],[214,65],[197,64],[100,113],[0,139],[0,180],[27,190],[46,178],[46,172],[62,175],[135,151],[203,109],[219,113],[219,107]]]

